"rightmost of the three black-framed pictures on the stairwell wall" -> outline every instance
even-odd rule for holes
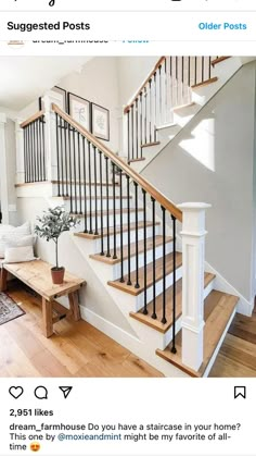
[[[91,132],[97,138],[110,141],[110,111],[91,103]]]

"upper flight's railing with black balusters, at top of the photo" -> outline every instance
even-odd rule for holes
[[[174,109],[190,103],[191,88],[212,81],[212,62],[223,59],[162,57],[157,61],[124,110],[127,118],[124,156],[128,156],[128,163],[143,159],[143,148],[157,144],[157,127],[174,122]]]

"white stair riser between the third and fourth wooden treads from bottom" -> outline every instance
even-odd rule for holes
[[[166,255],[172,252],[172,243],[166,244]],[[159,259],[163,256],[163,246],[157,246],[155,249],[155,259]],[[153,262],[153,249],[146,251],[146,264]],[[139,268],[144,265],[144,252],[139,255]],[[131,257],[130,271],[136,271],[136,256]],[[124,261],[124,274],[128,274],[128,260]],[[120,263],[113,265],[112,272],[110,272],[112,281],[120,277]]]

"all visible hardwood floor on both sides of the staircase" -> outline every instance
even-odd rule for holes
[[[161,378],[163,374],[85,321],[64,319],[41,332],[40,300],[13,283],[9,295],[26,311],[0,326],[0,376]],[[256,309],[236,314],[212,378],[256,378]]]

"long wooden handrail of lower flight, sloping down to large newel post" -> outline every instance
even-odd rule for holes
[[[132,181],[135,181],[142,189],[151,195],[162,207],[164,207],[170,214],[172,214],[178,221],[182,222],[182,211],[176,207],[168,198],[161,194],[152,184],[149,183],[144,177],[138,174],[131,166],[129,166],[123,159],[112,152],[102,141],[95,138],[90,132],[82,127],[78,122],[72,119],[68,114],[61,110],[56,104],[52,103],[52,111],[57,113],[64,121],[66,121],[72,127],[76,128],[81,135],[84,135],[89,141],[102,151],[112,162],[121,169]]]

